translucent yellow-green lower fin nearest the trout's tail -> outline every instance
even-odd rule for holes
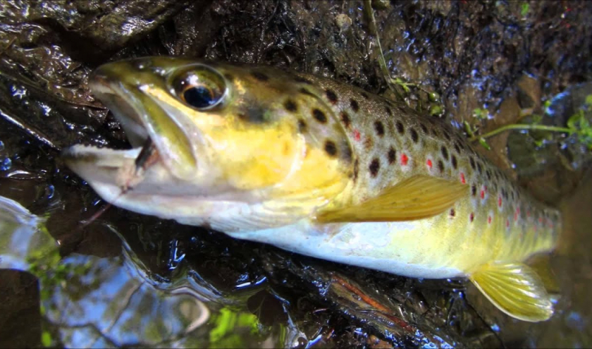
[[[526,264],[486,264],[469,278],[496,307],[511,317],[540,322],[553,315],[553,305],[541,278]]]

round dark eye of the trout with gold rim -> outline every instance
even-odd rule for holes
[[[205,66],[192,67],[180,73],[172,82],[174,94],[195,109],[211,109],[226,94],[226,82],[222,76]]]

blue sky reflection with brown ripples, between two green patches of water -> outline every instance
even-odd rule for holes
[[[60,267],[68,282],[49,288],[42,307],[67,346],[173,345],[209,320],[204,302],[157,290],[121,257],[73,255]]]

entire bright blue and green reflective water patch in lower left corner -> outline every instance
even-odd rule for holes
[[[281,326],[283,336],[259,336],[261,325],[250,312],[206,305],[211,290],[159,285],[130,250],[121,257],[72,254],[60,260],[42,224],[18,202],[0,197],[0,268],[39,278],[43,345],[227,348],[288,339]]]

